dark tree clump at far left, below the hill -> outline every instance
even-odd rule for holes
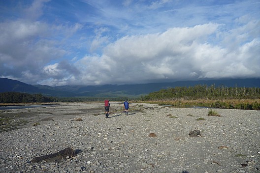
[[[35,103],[35,102],[58,102],[55,97],[47,97],[42,94],[28,94],[20,92],[0,93],[0,103]]]

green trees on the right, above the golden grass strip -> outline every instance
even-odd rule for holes
[[[141,97],[142,100],[183,98],[260,98],[259,87],[216,87],[215,85],[196,85],[194,87],[174,87],[151,92]]]

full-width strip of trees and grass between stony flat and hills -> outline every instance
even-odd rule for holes
[[[131,103],[154,103],[176,107],[200,106],[209,108],[260,110],[259,87],[215,87],[197,85],[194,87],[174,87],[151,92],[140,98],[128,97],[47,97],[41,94],[18,92],[0,93],[0,103],[33,102],[82,102],[82,101],[124,101]]]

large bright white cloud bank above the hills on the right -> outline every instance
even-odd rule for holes
[[[126,36],[108,45],[102,56],[85,57],[75,65],[80,64],[85,84],[92,85],[241,77],[241,72],[242,77],[260,77],[254,64],[259,60],[254,57],[259,53],[259,41],[243,44],[236,51],[212,45],[208,41],[216,37],[218,27],[210,23]]]

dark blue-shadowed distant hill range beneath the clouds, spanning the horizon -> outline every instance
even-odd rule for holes
[[[55,97],[138,97],[168,87],[193,87],[195,85],[215,85],[226,87],[260,87],[260,79],[226,79],[178,81],[172,83],[150,83],[133,85],[102,86],[59,86],[28,85],[20,81],[0,78],[0,92],[41,93]]]

